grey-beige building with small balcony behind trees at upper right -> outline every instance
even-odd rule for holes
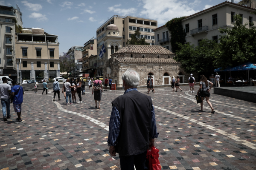
[[[231,2],[223,2],[211,8],[200,11],[196,14],[192,14],[182,20],[182,26],[186,32],[186,42],[190,44],[199,45],[202,39],[215,40],[219,42],[219,36],[221,35],[218,28],[233,28],[235,21],[234,16],[236,14],[241,15],[243,18],[242,23],[250,28],[254,23],[256,25],[256,15],[251,14],[255,9],[239,5]],[[172,51],[170,38],[171,34],[166,26],[161,26],[155,31],[156,45],[161,45]]]

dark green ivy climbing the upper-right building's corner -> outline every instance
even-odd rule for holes
[[[172,52],[176,53],[177,50],[179,50],[179,45],[184,44],[186,42],[185,37],[186,33],[182,27],[181,21],[186,17],[179,17],[179,18],[173,18],[172,20],[169,20],[166,23],[166,27],[170,31],[172,37],[171,37],[171,45],[172,45]]]

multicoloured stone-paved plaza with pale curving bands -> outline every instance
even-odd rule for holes
[[[13,117],[0,119],[0,170],[118,170],[119,157],[108,150],[108,125],[111,101],[124,91],[103,91],[99,110],[87,88],[82,103],[73,105],[64,105],[63,94],[52,102],[52,93],[26,91],[20,124],[11,104]],[[147,94],[155,107],[162,169],[255,170],[256,105],[211,94],[215,114],[206,102],[200,112],[195,93],[181,88]]]

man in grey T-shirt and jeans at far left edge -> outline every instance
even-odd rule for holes
[[[3,111],[3,121],[11,118],[10,115],[10,98],[11,96],[11,86],[8,84],[8,79],[6,77],[2,78],[3,83],[0,84],[0,95],[1,95],[1,104]],[[7,115],[6,115],[7,112]]]

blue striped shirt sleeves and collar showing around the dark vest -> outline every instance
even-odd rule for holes
[[[138,91],[137,88],[129,88],[125,91],[125,94],[130,91]],[[118,141],[116,140],[119,131],[120,131],[120,114],[119,111],[116,109],[115,106],[112,108],[110,121],[109,121],[109,131],[108,131],[108,146],[116,146]],[[154,113],[154,106],[152,105],[151,110],[151,125],[150,125],[150,131],[149,131],[149,138],[154,139],[158,137],[157,133],[157,125],[156,125],[156,119],[155,119],[155,113]]]

